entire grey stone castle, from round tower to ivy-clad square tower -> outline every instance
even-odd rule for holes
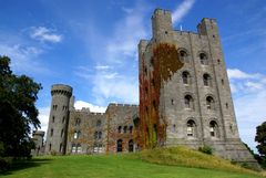
[[[178,31],[171,12],[156,9],[152,34],[139,43],[140,106],[78,111],[72,87],[55,84],[44,153],[207,145],[221,157],[254,163],[238,135],[216,20],[203,19],[197,33]]]

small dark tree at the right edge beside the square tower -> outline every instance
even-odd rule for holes
[[[257,149],[258,153],[266,157],[266,122],[257,126],[255,140],[258,143]]]

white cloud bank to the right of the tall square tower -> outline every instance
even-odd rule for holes
[[[259,73],[246,73],[238,69],[228,69],[227,73],[241,137],[255,149],[256,126],[266,118],[266,76]]]

